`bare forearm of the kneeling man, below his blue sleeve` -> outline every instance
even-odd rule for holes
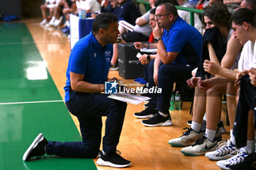
[[[83,81],[83,74],[70,72],[70,84],[73,91],[81,93],[100,93],[105,90],[104,84],[92,84]]]

